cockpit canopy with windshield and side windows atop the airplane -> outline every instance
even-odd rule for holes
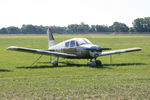
[[[83,44],[85,45],[85,44],[92,44],[92,43],[86,38],[76,38],[76,39],[71,39],[69,41],[66,41],[65,47],[77,47]]]

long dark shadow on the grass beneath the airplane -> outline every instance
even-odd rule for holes
[[[16,67],[20,69],[42,69],[42,68],[61,68],[61,67],[91,67],[91,68],[107,68],[112,69],[109,66],[114,67],[123,67],[123,66],[134,66],[134,65],[146,65],[145,63],[121,63],[121,64],[103,64],[101,66],[88,66],[87,64],[70,64],[67,63],[66,65],[59,65],[59,66],[53,66],[53,65],[34,65],[34,66],[23,66],[23,67]]]

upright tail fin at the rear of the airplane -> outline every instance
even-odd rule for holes
[[[48,48],[49,48],[56,44],[50,28],[47,29],[47,36],[48,36]]]

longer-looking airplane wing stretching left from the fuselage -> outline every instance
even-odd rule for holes
[[[74,54],[53,52],[53,51],[42,50],[42,49],[31,49],[31,48],[23,48],[23,47],[16,47],[16,46],[10,46],[7,49],[8,50],[14,50],[14,51],[22,51],[22,52],[29,52],[29,53],[35,53],[35,54],[42,54],[42,55],[54,55],[54,56],[62,56],[62,57],[76,57],[76,55],[74,55]]]

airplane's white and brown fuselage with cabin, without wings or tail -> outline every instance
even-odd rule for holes
[[[88,48],[92,48],[93,46],[96,45],[93,45],[86,38],[73,38],[51,46],[48,50],[77,55],[74,58],[91,59],[95,58],[95,56],[99,56],[101,53],[88,50]]]

